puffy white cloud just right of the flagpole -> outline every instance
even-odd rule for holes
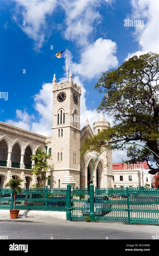
[[[68,54],[68,65],[74,74],[81,74],[85,78],[99,76],[102,72],[115,68],[118,60],[114,54],[117,45],[110,39],[98,38],[89,44],[81,54],[80,63],[72,61],[71,53]]]

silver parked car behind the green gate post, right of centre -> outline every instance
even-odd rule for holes
[[[111,212],[111,203],[107,202],[109,200],[108,196],[97,195],[94,197],[94,211],[97,215],[106,215]],[[97,210],[96,210],[97,206]],[[109,210],[104,210],[109,209]],[[82,214],[88,215],[90,213],[90,198],[83,206]]]

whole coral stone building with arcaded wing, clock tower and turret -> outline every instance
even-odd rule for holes
[[[91,165],[96,153],[80,157],[80,147],[86,137],[93,137],[110,124],[100,113],[99,120],[93,124],[92,131],[88,120],[80,129],[80,96],[81,86],[72,81],[71,71],[66,82],[57,83],[53,77],[53,116],[52,136],[43,136],[0,122],[0,187],[10,179],[23,179],[22,187],[32,187],[37,177],[32,173],[34,161],[30,156],[39,148],[49,152],[52,166],[47,172],[50,187],[87,187],[91,180]],[[112,187],[112,153],[104,152],[93,170],[94,185]]]

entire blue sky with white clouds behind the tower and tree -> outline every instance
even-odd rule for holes
[[[53,75],[66,80],[64,59],[54,54],[69,50],[68,69],[83,92],[81,126],[87,117],[92,126],[102,73],[135,54],[158,52],[157,0],[1,0],[0,9],[0,91],[8,92],[0,121],[44,135],[51,133]],[[144,27],[124,27],[128,18]]]

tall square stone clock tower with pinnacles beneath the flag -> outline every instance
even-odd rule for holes
[[[80,96],[81,86],[53,78],[52,159],[54,187],[67,183],[80,186]],[[58,183],[58,184],[57,184]]]

